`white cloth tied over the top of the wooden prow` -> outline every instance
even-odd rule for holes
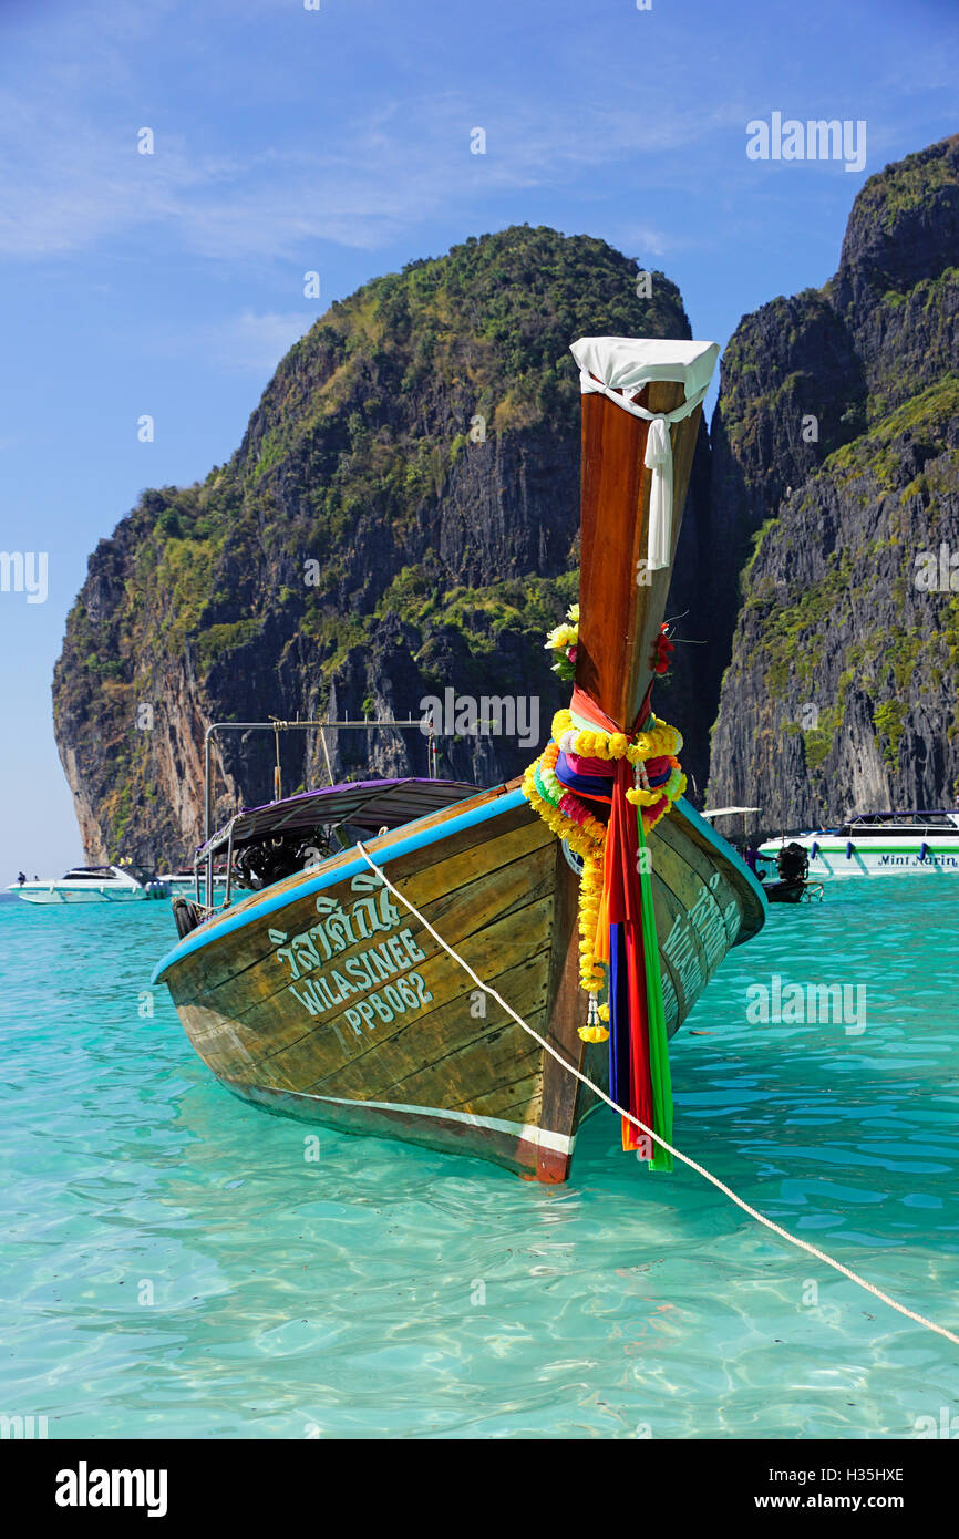
[[[580,337],[570,348],[579,363],[583,396],[606,396],[623,411],[650,423],[643,463],[650,479],[650,571],[670,565],[673,546],[673,442],[670,426],[682,422],[703,400],[719,345],[716,342],[671,342],[662,337]],[[674,380],[683,386],[685,400],[674,411],[653,412],[628,397],[653,380]],[[620,396],[619,391],[623,394]]]

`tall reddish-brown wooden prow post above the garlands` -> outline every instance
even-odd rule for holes
[[[683,386],[656,380],[630,400],[674,411]],[[670,565],[648,573],[651,471],[643,466],[650,423],[606,396],[582,397],[582,566],[576,683],[628,733],[653,679],[673,559],[682,523],[702,406],[673,423],[673,542]],[[637,582],[643,573],[647,582]]]

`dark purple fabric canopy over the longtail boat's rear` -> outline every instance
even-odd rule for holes
[[[197,860],[222,850],[229,840],[231,828],[234,850],[268,834],[306,834],[337,823],[353,823],[377,833],[380,828],[399,828],[426,817],[476,793],[477,788],[463,780],[422,780],[413,776],[403,780],[354,780],[349,785],[328,785],[322,791],[302,791],[282,802],[245,806],[197,850]]]

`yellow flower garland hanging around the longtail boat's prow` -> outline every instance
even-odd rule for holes
[[[579,609],[577,616],[579,619]],[[557,626],[551,637],[559,636]],[[553,643],[550,643],[553,645]],[[605,988],[606,970],[596,959],[596,930],[603,890],[603,850],[606,828],[593,816],[580,797],[570,791],[557,777],[556,766],[560,753],[576,759],[616,762],[625,759],[636,773],[636,786],[627,791],[627,800],[642,808],[643,833],[650,833],[660,817],[673,806],[687,788],[676,754],[682,748],[682,736],[659,717],[653,717],[650,731],[627,737],[625,733],[603,733],[596,728],[577,728],[570,711],[557,711],[553,717],[553,740],[523,776],[523,796],[543,819],[557,839],[563,839],[576,854],[582,856],[583,871],[579,885],[579,976],[580,986],[590,996],[586,1025],[579,1034],[585,1042],[605,1042],[610,1036],[602,1022],[610,1019],[610,1007],[597,1003],[597,994]],[[645,765],[650,760],[665,760],[670,774],[665,783],[650,786]]]

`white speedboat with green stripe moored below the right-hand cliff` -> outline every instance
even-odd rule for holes
[[[959,876],[959,811],[864,813],[840,828],[790,834],[808,851],[810,877]],[[759,860],[776,860],[787,842],[768,839]]]

